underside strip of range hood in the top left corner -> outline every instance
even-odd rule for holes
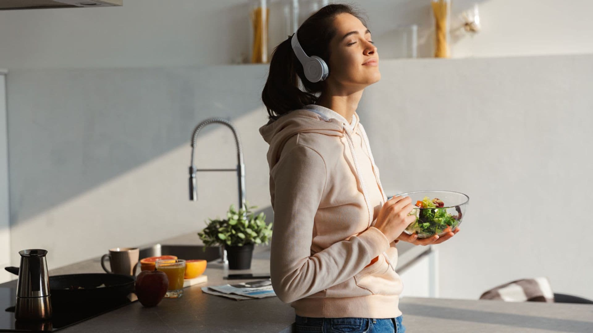
[[[0,10],[113,7],[123,5],[123,0],[0,0]]]

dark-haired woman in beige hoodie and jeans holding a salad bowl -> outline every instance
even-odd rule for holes
[[[274,50],[262,93],[272,286],[295,309],[297,332],[404,332],[397,242],[438,244],[459,229],[440,239],[407,235],[410,198],[385,196],[356,113],[364,88],[381,78],[361,15],[327,5],[293,37]]]

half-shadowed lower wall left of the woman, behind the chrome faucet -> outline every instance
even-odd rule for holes
[[[199,172],[198,201],[189,201],[190,139],[208,117],[232,119],[246,199],[266,209],[267,143],[257,132],[267,121],[264,72],[264,65],[9,72],[12,264],[34,247],[49,251],[49,268],[59,267],[197,232],[237,207],[235,172]],[[206,126],[195,162],[235,168],[231,130]]]

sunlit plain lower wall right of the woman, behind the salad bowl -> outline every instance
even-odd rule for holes
[[[593,299],[592,77],[593,55],[382,62],[359,114],[384,186],[470,196],[439,296],[546,276]]]

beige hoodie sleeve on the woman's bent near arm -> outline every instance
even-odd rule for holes
[[[372,258],[390,248],[387,237],[371,226],[311,255],[315,214],[327,180],[321,155],[298,145],[270,173],[274,228],[270,252],[272,287],[284,303],[294,302],[342,283]]]

